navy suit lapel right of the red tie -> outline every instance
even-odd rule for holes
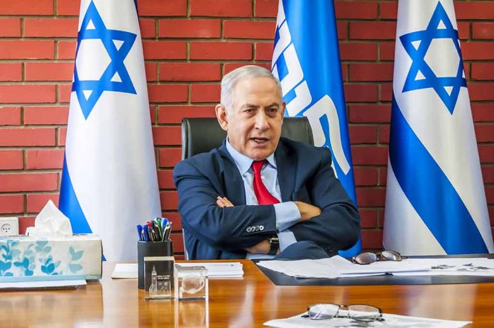
[[[278,183],[280,184],[281,201],[289,202],[292,200],[292,193],[295,189],[295,171],[297,161],[295,156],[290,156],[288,150],[280,139],[278,148],[275,151],[276,167],[278,170]]]

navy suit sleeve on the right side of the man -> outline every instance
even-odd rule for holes
[[[295,199],[319,207],[322,213],[290,227],[297,241],[314,241],[328,253],[350,248],[360,235],[360,216],[331,168],[331,152],[324,149],[317,172],[307,183],[309,199]],[[296,194],[296,193],[295,193]]]

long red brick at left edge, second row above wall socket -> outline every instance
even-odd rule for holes
[[[58,173],[0,174],[0,192],[53,191],[57,181]]]

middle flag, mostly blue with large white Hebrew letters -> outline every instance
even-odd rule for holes
[[[357,204],[333,1],[280,0],[273,75],[281,82],[287,116],[306,116],[314,143],[331,150],[332,167]],[[342,256],[361,251],[361,241]]]

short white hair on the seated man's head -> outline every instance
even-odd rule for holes
[[[270,71],[266,70],[264,67],[247,65],[239,67],[236,70],[232,70],[227,75],[221,79],[221,104],[226,108],[226,111],[231,112],[232,109],[232,98],[236,84],[241,80],[248,80],[254,77],[270,77],[276,82],[278,89],[281,92],[280,80],[275,77]]]

